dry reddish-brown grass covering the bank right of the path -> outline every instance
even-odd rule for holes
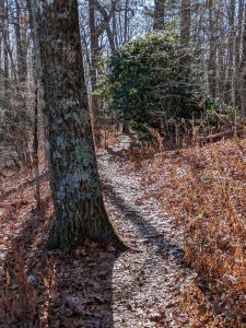
[[[156,198],[184,227],[185,260],[203,281],[185,294],[192,327],[245,327],[246,141],[166,152],[151,169]]]

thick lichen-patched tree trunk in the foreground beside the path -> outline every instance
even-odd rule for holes
[[[56,213],[47,247],[69,251],[86,238],[121,246],[102,197],[83,77],[78,1],[32,1]]]

